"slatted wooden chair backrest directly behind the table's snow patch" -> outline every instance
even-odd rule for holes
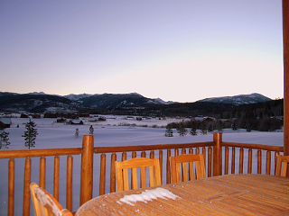
[[[137,189],[137,168],[140,168],[140,186],[146,187],[145,167],[149,169],[150,186],[161,185],[160,162],[158,158],[135,157],[125,161],[116,161],[117,192],[129,190],[128,169],[131,168],[131,189]]]

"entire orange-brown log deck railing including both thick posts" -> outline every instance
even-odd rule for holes
[[[80,168],[80,192],[79,205],[89,201],[93,193],[93,168],[94,158],[100,156],[99,163],[96,165],[99,169],[99,194],[113,193],[116,191],[116,173],[115,161],[126,160],[130,157],[158,157],[161,164],[162,183],[171,183],[170,165],[168,158],[186,153],[200,153],[206,158],[207,176],[228,174],[228,167],[231,166],[231,173],[234,174],[235,166],[238,165],[238,173],[262,173],[262,154],[266,151],[266,172],[263,174],[274,175],[275,158],[276,155],[283,152],[283,147],[266,146],[260,144],[234,143],[222,142],[222,134],[214,133],[213,140],[210,142],[196,142],[184,144],[163,144],[163,145],[143,145],[143,146],[126,146],[126,147],[94,147],[93,135],[84,135],[82,139],[82,148],[53,148],[53,149],[32,149],[32,150],[3,150],[0,158],[8,158],[8,215],[14,215],[14,177],[15,177],[15,163],[14,158],[25,158],[24,175],[23,175],[23,215],[30,215],[30,191],[29,185],[31,183],[32,172],[32,157],[40,158],[39,183],[45,188],[46,183],[46,157],[54,157],[53,169],[53,195],[58,200],[60,187],[66,186],[66,206],[68,210],[72,211],[72,170],[73,170],[73,156],[81,155]],[[230,150],[230,153],[229,153]],[[237,150],[237,151],[236,151]],[[180,153],[181,151],[181,153]],[[256,151],[256,163],[254,162],[253,152]],[[244,160],[247,154],[247,163]],[[238,155],[238,158],[236,156]],[[60,185],[60,156],[67,157],[66,170],[66,185]],[[107,157],[110,159],[107,161]],[[224,161],[224,165],[223,165]],[[230,161],[230,163],[229,163]],[[256,172],[252,167],[256,165]],[[80,166],[77,164],[76,166]],[[247,166],[247,171],[244,171],[244,166]],[[107,179],[106,170],[109,170],[109,178]],[[5,175],[5,174],[3,174]],[[106,187],[108,188],[106,192]],[[75,198],[75,197],[74,197]]]

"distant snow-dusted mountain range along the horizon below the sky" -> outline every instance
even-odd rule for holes
[[[262,103],[272,99],[262,94],[241,94],[231,97],[206,98],[196,103],[224,103],[241,105]],[[0,112],[88,112],[96,109],[133,109],[156,107],[176,102],[164,102],[160,98],[146,98],[141,94],[69,94],[65,96],[44,93],[17,94],[0,92]],[[155,108],[156,109],[156,108]]]

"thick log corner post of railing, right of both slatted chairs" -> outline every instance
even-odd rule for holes
[[[222,175],[222,133],[214,133],[214,142],[216,145],[213,147],[213,176]]]

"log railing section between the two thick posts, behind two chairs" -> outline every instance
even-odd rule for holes
[[[100,181],[99,181],[99,195],[105,194],[106,183],[106,168],[107,168],[107,154],[110,154],[110,193],[116,192],[116,167],[117,160],[126,160],[126,158],[134,158],[137,153],[140,157],[158,157],[160,159],[161,176],[163,184],[171,183],[169,157],[178,156],[180,150],[182,154],[196,153],[205,156],[208,165],[208,175],[211,176],[212,170],[212,147],[214,142],[198,142],[198,143],[183,143],[183,144],[163,144],[163,145],[144,145],[144,146],[126,146],[126,147],[97,147],[94,148],[95,154],[101,154],[100,157]],[[173,151],[173,154],[172,154]],[[121,153],[117,158],[117,152]],[[164,152],[164,153],[163,153]],[[208,152],[208,153],[207,153]],[[163,154],[165,154],[163,156]],[[164,166],[164,169],[163,169]],[[165,179],[163,179],[163,172]]]

